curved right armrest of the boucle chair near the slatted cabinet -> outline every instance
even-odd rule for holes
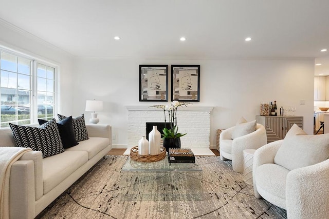
[[[258,149],[266,143],[266,130],[261,124],[257,124],[257,129],[254,132],[234,138],[232,142],[233,171],[243,173],[243,150]]]

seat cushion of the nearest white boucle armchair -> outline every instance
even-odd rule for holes
[[[276,164],[263,164],[253,173],[257,189],[286,199],[286,178],[289,170]]]

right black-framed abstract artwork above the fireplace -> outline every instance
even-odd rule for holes
[[[200,102],[200,65],[171,66],[171,101]]]

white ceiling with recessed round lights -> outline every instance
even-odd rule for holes
[[[0,0],[0,18],[75,56],[316,57],[316,74],[329,75],[328,9],[328,0]]]

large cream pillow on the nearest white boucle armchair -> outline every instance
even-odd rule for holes
[[[296,124],[286,134],[274,162],[288,170],[314,165],[329,158],[329,134],[306,135]]]

